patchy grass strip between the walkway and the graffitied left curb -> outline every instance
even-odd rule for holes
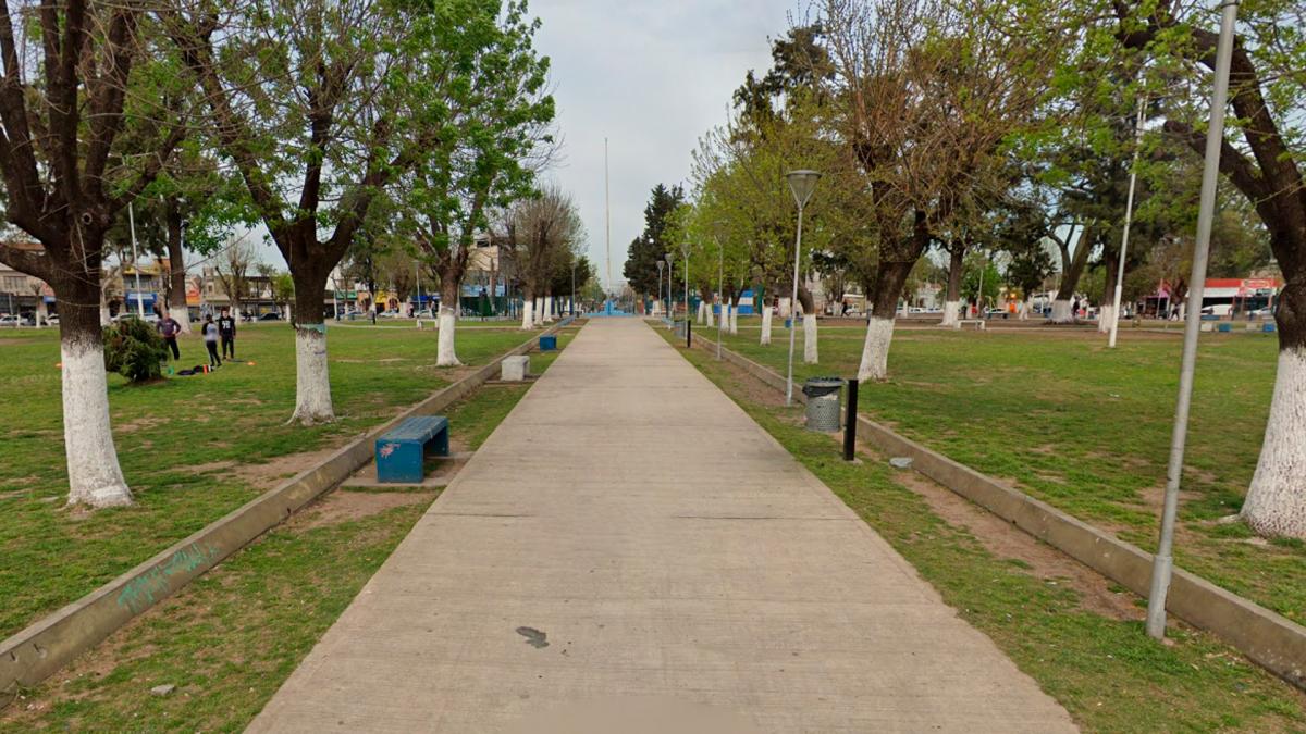
[[[555,357],[532,355],[533,371]],[[526,389],[486,387],[453,406],[454,448],[479,447]],[[336,490],[22,691],[0,731],[239,731],[438,494]]]

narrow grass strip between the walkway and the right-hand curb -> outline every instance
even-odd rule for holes
[[[707,353],[686,357],[1084,729],[1306,731],[1301,692],[1213,636],[1171,627],[1174,644],[1161,645],[1145,636],[1140,622],[1084,609],[1068,584],[1036,576],[1020,559],[994,555],[966,529],[942,520],[895,481],[883,457],[863,453],[862,464],[845,464],[829,436],[799,427],[801,407],[755,402],[742,389],[747,377]]]

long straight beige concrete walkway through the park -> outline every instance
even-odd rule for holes
[[[251,729],[1074,727],[648,325],[597,319]]]

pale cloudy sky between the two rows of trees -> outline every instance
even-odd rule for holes
[[[644,229],[658,183],[683,182],[697,138],[726,118],[748,69],[771,65],[795,0],[533,0],[537,48],[552,59],[564,138],[550,174],[580,206],[592,261],[606,285],[603,137],[609,138],[613,279]]]

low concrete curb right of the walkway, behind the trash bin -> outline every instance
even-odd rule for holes
[[[716,341],[697,334],[693,345],[713,353],[717,346]],[[784,376],[724,346],[721,355],[767,385],[785,391]],[[806,402],[801,389],[794,391],[794,398]],[[917,471],[1147,598],[1152,554],[868,418],[858,415],[857,424],[859,438],[884,453],[910,457]],[[1174,569],[1166,609],[1185,622],[1213,632],[1293,686],[1306,688],[1306,627],[1182,568]]]

